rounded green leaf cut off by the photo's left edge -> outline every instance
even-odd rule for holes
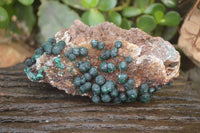
[[[8,26],[8,23],[8,13],[3,7],[0,7],[0,28],[6,28]]]

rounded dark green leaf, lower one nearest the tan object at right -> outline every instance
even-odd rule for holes
[[[159,24],[165,26],[177,26],[181,21],[181,16],[178,12],[170,11],[168,12],[162,20],[160,20]]]

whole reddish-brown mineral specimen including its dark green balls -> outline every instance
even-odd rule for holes
[[[32,81],[100,102],[149,102],[179,74],[180,55],[160,37],[112,23],[88,27],[76,20],[27,59]]]

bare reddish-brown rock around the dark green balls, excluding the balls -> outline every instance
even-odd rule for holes
[[[88,60],[91,62],[91,66],[95,66],[99,70],[100,54],[106,49],[113,49],[114,42],[117,40],[123,43],[122,48],[118,51],[118,56],[106,60],[112,62],[116,66],[116,70],[113,73],[104,73],[99,70],[99,74],[103,75],[106,80],[113,80],[119,92],[124,92],[126,89],[123,84],[118,83],[117,77],[121,73],[118,65],[121,61],[125,61],[127,56],[131,56],[133,61],[128,64],[127,71],[123,71],[123,73],[127,74],[129,79],[135,80],[133,88],[139,89],[143,83],[148,83],[149,87],[165,85],[179,75],[180,55],[175,48],[168,41],[164,41],[160,37],[151,37],[137,28],[124,30],[108,22],[88,27],[76,20],[70,29],[58,32],[55,39],[57,42],[60,40],[66,42],[65,48],[58,55],[65,68],[60,69],[56,66],[53,61],[57,58],[56,55],[44,53],[37,58],[36,64],[32,65],[31,69],[33,71],[43,69],[44,79],[39,82],[47,82],[68,94],[93,96],[92,91],[80,93],[73,84],[74,78],[82,75],[76,67],[76,62]],[[92,48],[90,44],[92,39],[105,42],[105,49]],[[64,54],[73,47],[86,47],[88,49],[87,58],[78,57],[75,62],[66,58]]]

